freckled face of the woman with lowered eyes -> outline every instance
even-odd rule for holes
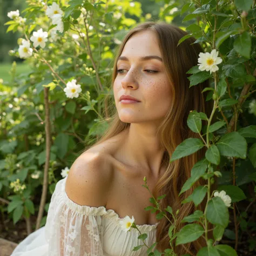
[[[142,59],[147,56],[152,58]],[[114,101],[124,123],[153,122],[158,124],[171,106],[171,84],[164,72],[157,36],[152,31],[138,32],[125,44],[117,62],[113,84]],[[122,95],[140,100],[120,102]]]

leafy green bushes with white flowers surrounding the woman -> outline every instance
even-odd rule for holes
[[[12,82],[1,84],[5,92],[1,93],[3,103],[0,103],[4,110],[0,193],[6,197],[5,201],[10,200],[5,211],[14,223],[24,217],[29,225],[30,215],[38,212],[38,228],[44,225],[43,213],[49,206],[46,204],[44,208],[46,194],[40,206],[33,203],[33,195],[43,179],[51,194],[58,179],[68,175],[69,166],[77,152],[83,150],[84,142],[93,143],[107,127],[104,97],[112,97],[109,81],[113,52],[127,29],[136,24],[125,14],[140,21],[145,18],[140,3],[131,1],[27,2],[25,18],[19,16],[18,10],[12,11],[8,13],[12,21],[6,23],[7,32],[21,33],[18,48],[10,54],[25,58],[31,64],[31,72],[17,78],[14,64]],[[204,91],[208,91],[206,100],[214,102],[212,113],[207,117],[202,112],[190,112],[187,125],[201,139],[184,140],[173,152],[171,161],[207,148],[205,157],[192,166],[191,178],[180,191],[182,194],[198,179],[205,179],[207,185],[195,188],[182,203],[192,201],[198,206],[204,199],[207,203],[204,211],[196,210],[186,216],[180,230],[175,225],[179,211],[173,212],[171,206],[160,210],[160,200],[165,195],[152,196],[151,205],[145,210],[157,212],[157,219],[167,218],[172,223],[170,248],[164,255],[176,255],[177,245],[200,237],[206,240],[207,247],[201,248],[197,256],[237,255],[238,241],[245,234],[250,234],[246,243],[253,253],[256,248],[252,235],[255,217],[251,217],[256,199],[255,1],[161,3],[159,17],[164,21],[183,17],[186,25],[180,26],[189,35],[181,38],[179,44],[194,36],[205,50],[198,56],[198,65],[187,73],[191,75],[190,86],[210,79],[210,87]],[[36,49],[37,46],[40,47]],[[214,114],[218,120],[212,123]],[[207,121],[206,126],[202,126],[202,120]],[[211,193],[216,177],[218,190]],[[143,186],[150,191],[146,178]],[[126,232],[137,228],[136,219],[129,216],[121,224]],[[213,225],[213,239],[208,238],[209,224]],[[154,247],[156,243],[145,244],[146,237],[140,233],[138,239],[143,244],[134,251],[147,246],[148,255],[163,255]],[[235,250],[219,244],[223,237],[234,240]]]

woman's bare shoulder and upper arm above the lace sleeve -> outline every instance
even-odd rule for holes
[[[98,153],[85,152],[72,164],[65,191],[78,205],[105,206],[111,174],[107,160]]]

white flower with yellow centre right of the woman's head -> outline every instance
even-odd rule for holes
[[[199,65],[199,70],[201,71],[209,71],[210,73],[215,72],[219,70],[219,67],[217,66],[222,62],[222,59],[218,57],[218,51],[216,52],[215,49],[212,50],[211,53],[209,52],[200,52],[199,53],[199,58],[198,58],[198,65]]]

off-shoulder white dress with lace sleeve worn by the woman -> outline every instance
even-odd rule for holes
[[[139,232],[125,233],[119,216],[104,206],[90,207],[71,201],[65,192],[66,178],[59,180],[52,194],[46,225],[26,237],[11,256],[139,256],[147,255]],[[131,216],[130,216],[131,217]],[[156,241],[155,225],[137,225],[147,233],[145,243]]]

